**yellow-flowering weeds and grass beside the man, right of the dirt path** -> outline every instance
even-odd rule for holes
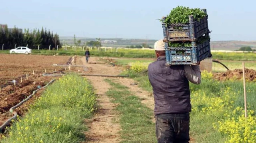
[[[152,92],[142,62],[130,68],[139,86]],[[256,143],[256,83],[246,82],[248,117],[244,117],[243,83],[238,80],[216,81],[213,74],[202,71],[202,83],[190,85],[190,134],[196,143]]]

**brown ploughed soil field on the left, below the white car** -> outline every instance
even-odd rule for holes
[[[45,86],[52,79],[58,78],[42,76],[45,70],[46,73],[68,72],[68,67],[65,69],[64,66],[53,66],[53,64],[69,65],[71,59],[71,56],[0,54],[0,125],[12,117],[9,113],[11,107],[26,99],[33,91]],[[80,71],[81,69],[81,67],[72,67],[70,71]],[[26,75],[28,75],[28,79],[26,79]],[[43,89],[15,109],[18,115],[24,115],[29,105],[40,97],[42,92]]]

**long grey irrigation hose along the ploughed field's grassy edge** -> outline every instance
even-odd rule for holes
[[[45,87],[47,87],[48,85],[50,85],[51,83],[53,83],[55,81],[55,79],[53,79],[52,81],[50,81],[47,85],[45,85],[44,87],[41,87],[40,89],[43,89]],[[37,93],[37,91],[39,91],[40,89],[37,89],[35,91],[33,91],[32,95],[29,95],[26,99],[24,99],[23,101],[21,101],[20,103],[18,103],[17,105],[15,105],[14,107],[10,108],[10,113],[12,113],[14,116],[10,119],[8,119],[3,125],[0,126],[0,132],[13,120],[17,118],[17,113],[14,111],[14,109],[20,107],[24,102],[28,101],[32,96],[34,96],[34,94]]]

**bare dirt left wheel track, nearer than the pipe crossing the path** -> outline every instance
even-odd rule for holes
[[[103,77],[87,77],[97,91],[98,111],[97,114],[87,121],[90,131],[86,133],[87,143],[119,143],[120,125],[114,123],[114,119],[118,119],[113,111],[115,104],[111,103],[109,97],[105,93],[109,89],[108,83]],[[88,124],[89,123],[89,124]]]

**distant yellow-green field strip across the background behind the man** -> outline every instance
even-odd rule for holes
[[[101,56],[101,57],[125,57],[125,58],[155,58],[154,50],[135,50],[135,49],[90,49],[91,56]],[[9,50],[0,50],[0,53],[9,53]],[[32,54],[42,54],[42,55],[79,55],[84,56],[85,51],[82,48],[77,48],[77,50],[65,50],[61,48],[59,50],[32,50]],[[213,58],[218,60],[244,60],[244,61],[256,61],[256,53],[235,53],[235,52],[212,52]]]

